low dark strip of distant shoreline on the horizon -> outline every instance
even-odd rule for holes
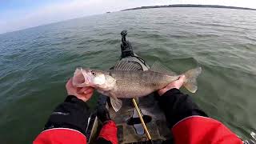
[[[237,6],[218,6],[218,5],[190,5],[190,4],[178,4],[178,5],[165,5],[165,6],[141,6],[135,7],[126,10],[141,10],[141,9],[154,9],[154,8],[168,8],[168,7],[202,7],[202,8],[218,8],[218,9],[238,9],[238,10],[256,10],[246,7],[237,7]],[[121,11],[126,11],[121,10]]]

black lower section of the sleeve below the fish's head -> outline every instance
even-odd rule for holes
[[[86,102],[73,95],[69,95],[50,115],[48,122],[46,122],[45,130],[70,128],[85,134],[89,116],[90,110]]]

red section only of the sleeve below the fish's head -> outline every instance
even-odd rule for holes
[[[86,144],[86,136],[78,130],[55,128],[45,130],[35,138],[34,144]]]

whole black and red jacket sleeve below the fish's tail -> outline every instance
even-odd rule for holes
[[[175,144],[242,144],[221,122],[208,118],[189,95],[172,89],[158,98]]]

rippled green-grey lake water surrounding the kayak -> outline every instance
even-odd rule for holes
[[[202,66],[198,92],[182,91],[235,134],[256,141],[256,11],[162,8],[0,34],[1,143],[32,142],[66,98],[76,67],[114,65],[122,30],[149,64],[158,60],[176,72]]]

